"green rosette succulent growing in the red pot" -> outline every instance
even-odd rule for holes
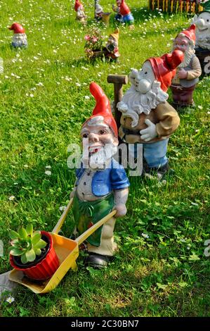
[[[26,228],[21,227],[18,232],[11,230],[9,237],[11,238],[9,252],[13,256],[20,256],[22,264],[34,261],[47,244],[41,239],[40,231],[33,231],[32,224],[27,225]]]

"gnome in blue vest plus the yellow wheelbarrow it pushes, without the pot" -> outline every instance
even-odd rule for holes
[[[13,266],[14,269],[6,277],[6,281],[18,282],[37,294],[54,289],[70,268],[77,270],[79,245],[85,240],[88,253],[86,266],[104,268],[117,250],[114,224],[117,217],[126,214],[129,180],[122,165],[113,158],[117,152],[118,132],[110,101],[95,82],[91,83],[90,90],[96,99],[96,107],[91,118],[81,127],[84,146],[81,167],[76,172],[77,181],[70,202],[51,232],[53,249],[59,261],[57,269],[51,277],[39,280],[28,277],[24,268]],[[75,240],[58,235],[71,206],[79,232]]]

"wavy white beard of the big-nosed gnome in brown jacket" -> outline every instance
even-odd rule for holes
[[[133,85],[123,96],[122,101],[117,104],[122,115],[132,118],[131,127],[138,125],[138,115],[140,113],[150,114],[158,104],[165,102],[169,95],[160,88],[160,82],[155,80],[149,92],[142,94],[136,91]]]

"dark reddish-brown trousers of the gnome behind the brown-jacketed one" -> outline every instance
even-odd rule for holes
[[[192,106],[192,94],[196,85],[183,87],[181,85],[171,85],[173,104],[181,107]]]

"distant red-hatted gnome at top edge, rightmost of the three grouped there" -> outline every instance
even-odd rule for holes
[[[117,11],[115,19],[120,23],[128,23],[129,28],[134,28],[134,18],[131,14],[129,6],[126,5],[124,0],[117,0],[117,6],[112,6],[114,11]]]

